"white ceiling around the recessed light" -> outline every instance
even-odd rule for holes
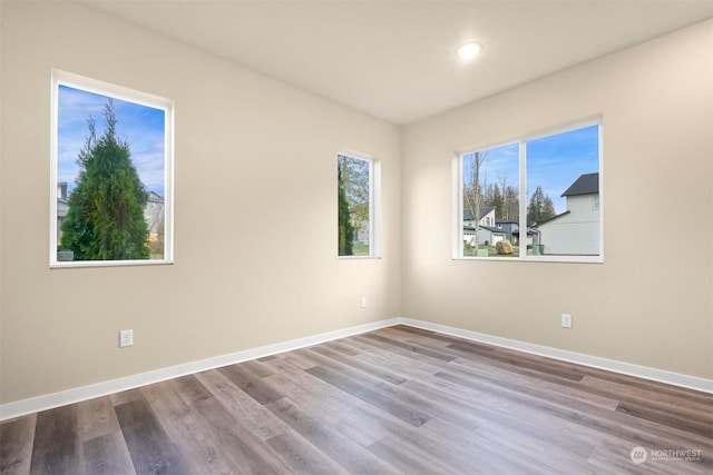
[[[84,3],[394,125],[713,17],[713,0]]]

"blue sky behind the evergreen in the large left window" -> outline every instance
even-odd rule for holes
[[[66,181],[69,192],[79,175],[77,156],[85,145],[94,117],[97,137],[106,125],[101,111],[108,97],[59,85],[57,120],[57,181]],[[117,136],[129,144],[131,161],[147,191],[164,196],[165,111],[114,98]]]

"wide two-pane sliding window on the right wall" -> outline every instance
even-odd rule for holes
[[[600,129],[460,154],[455,257],[602,261]]]

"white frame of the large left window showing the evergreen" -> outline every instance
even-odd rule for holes
[[[164,258],[127,260],[58,260],[57,198],[58,198],[58,100],[59,86],[67,86],[107,98],[134,102],[154,109],[160,109],[164,116]],[[50,226],[49,226],[49,266],[50,268],[111,267],[168,265],[174,261],[174,102],[158,96],[82,77],[67,71],[52,70],[51,80],[51,129],[50,129]],[[148,191],[148,190],[147,190]]]

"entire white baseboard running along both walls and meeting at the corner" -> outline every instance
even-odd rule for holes
[[[662,369],[648,368],[645,366],[632,365],[628,363],[616,362],[613,359],[599,358],[596,356],[583,355],[574,352],[551,348],[547,346],[534,345],[530,343],[518,342],[515,339],[501,338],[492,335],[480,334],[477,331],[465,330],[460,328],[449,327],[446,325],[432,324],[429,321],[416,320],[412,318],[390,318],[387,320],[374,321],[371,324],[358,325],[355,327],[343,328],[340,330],[328,331],[304,338],[297,338],[290,342],[279,343],[274,345],[261,346],[258,348],[246,349],[244,352],[232,353],[229,355],[216,356],[214,358],[201,359],[198,362],[186,363],[184,365],[172,366],[168,368],[156,369],[153,372],[140,373],[118,379],[111,379],[104,383],[97,383],[88,386],[81,386],[62,390],[59,393],[47,394],[43,396],[22,399],[13,403],[0,405],[0,420],[7,420],[20,417],[26,414],[32,414],[40,410],[51,409],[53,407],[65,406],[67,404],[79,403],[81,400],[95,397],[106,396],[121,390],[133,389],[148,384],[185,376],[198,372],[218,368],[222,366],[233,365],[250,359],[262,358],[277,353],[290,352],[293,349],[304,348],[306,346],[318,345],[320,343],[331,342],[348,336],[359,335],[372,331],[379,328],[390,327],[393,325],[409,325],[417,328],[438,331],[446,335],[452,335],[460,338],[482,342],[495,346],[517,349],[540,356],[547,356],[564,362],[577,363],[585,366],[606,369],[614,373],[637,376],[645,379],[667,383],[674,386],[687,387],[705,393],[713,393],[713,380],[704,379],[695,376],[681,375],[677,373],[665,372]]]

